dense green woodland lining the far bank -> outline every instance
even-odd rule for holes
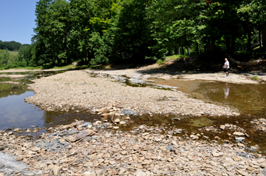
[[[28,66],[266,50],[265,0],[40,0],[35,15],[17,60]]]

